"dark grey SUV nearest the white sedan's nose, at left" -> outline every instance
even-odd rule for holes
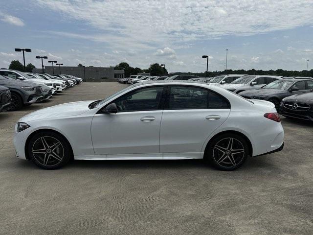
[[[0,85],[10,90],[13,111],[21,109],[23,105],[29,105],[45,99],[43,88],[32,82],[9,79],[0,75]]]

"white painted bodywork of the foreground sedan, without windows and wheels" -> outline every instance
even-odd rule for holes
[[[158,110],[117,114],[96,114],[115,98],[134,89],[155,85],[192,85],[211,89],[227,98],[231,109]],[[25,142],[29,135],[41,129],[60,132],[69,141],[78,160],[125,159],[197,159],[203,158],[208,141],[223,131],[238,131],[249,139],[253,156],[279,148],[284,140],[280,122],[264,118],[276,112],[273,104],[252,100],[212,86],[190,81],[140,83],[129,90],[111,96],[94,109],[92,101],[82,101],[38,110],[19,120],[30,127],[16,133],[14,145],[18,157],[26,159]],[[219,115],[209,120],[208,115]],[[143,122],[142,117],[155,120]]]

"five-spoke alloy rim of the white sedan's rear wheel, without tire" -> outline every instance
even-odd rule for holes
[[[223,167],[233,167],[240,164],[245,157],[243,143],[235,138],[224,138],[213,148],[215,162]]]

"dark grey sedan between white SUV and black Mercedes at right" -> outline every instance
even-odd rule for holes
[[[265,85],[261,89],[249,90],[239,93],[247,99],[263,99],[275,104],[278,109],[281,100],[293,94],[310,92],[313,80],[309,79],[282,79]]]

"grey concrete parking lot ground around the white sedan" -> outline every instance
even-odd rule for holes
[[[232,172],[199,160],[74,161],[49,171],[15,158],[13,125],[22,116],[125,86],[83,83],[0,113],[0,234],[313,233],[312,123],[283,118],[284,150]]]

